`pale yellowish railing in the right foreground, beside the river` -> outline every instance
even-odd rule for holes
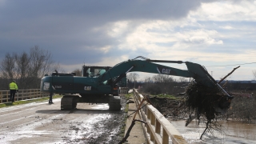
[[[134,100],[138,105],[142,102],[143,96],[137,90],[133,90]],[[146,106],[144,106],[146,105]],[[186,140],[175,129],[175,127],[150,104],[143,103],[142,109],[138,111],[140,118],[145,124],[142,124],[147,143],[157,144],[186,144]]]

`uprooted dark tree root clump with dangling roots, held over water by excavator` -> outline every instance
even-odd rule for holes
[[[186,105],[189,110],[189,118],[186,121],[186,126],[194,119],[198,119],[199,122],[203,122],[203,118],[206,118],[206,129],[202,133],[205,134],[210,128],[214,130],[218,129],[216,107],[222,109],[222,103],[226,101],[226,96],[218,90],[218,88],[208,88],[206,86],[199,85],[198,83],[191,82],[186,88]],[[202,119],[200,119],[202,118]],[[202,139],[202,135],[200,139]]]

